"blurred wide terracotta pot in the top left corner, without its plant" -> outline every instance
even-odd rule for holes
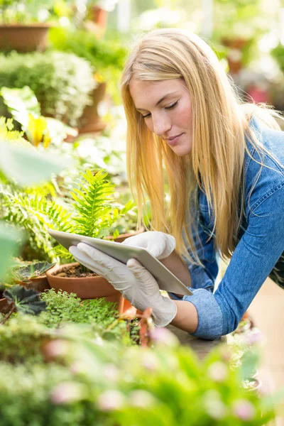
[[[0,49],[32,52],[45,50],[50,24],[0,25]]]

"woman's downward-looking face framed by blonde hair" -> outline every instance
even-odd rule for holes
[[[131,80],[129,89],[148,129],[163,138],[177,155],[189,154],[192,106],[184,80]]]

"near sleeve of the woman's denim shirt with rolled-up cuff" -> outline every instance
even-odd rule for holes
[[[250,214],[248,227],[214,295],[204,289],[184,296],[195,305],[198,327],[193,336],[217,339],[239,324],[284,250],[284,182],[264,194]]]

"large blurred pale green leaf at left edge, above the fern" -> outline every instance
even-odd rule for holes
[[[53,173],[60,173],[69,163],[67,158],[58,157],[53,153],[43,154],[33,147],[14,146],[0,141],[0,170],[22,186],[50,180]]]

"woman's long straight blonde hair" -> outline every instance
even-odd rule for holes
[[[148,130],[129,92],[133,79],[177,78],[185,81],[192,102],[192,152],[185,156],[176,155],[162,138]],[[215,249],[230,257],[244,212],[244,193],[240,194],[244,154],[248,151],[245,132],[262,152],[264,148],[249,121],[259,116],[266,126],[279,129],[273,118],[278,114],[264,106],[242,105],[209,45],[195,34],[173,28],[151,31],[136,43],[124,67],[121,94],[128,123],[128,178],[138,205],[139,224],[148,195],[150,229],[173,234],[180,256],[202,264],[192,238],[199,187],[214,212]],[[169,212],[165,209],[164,166],[170,188]]]

